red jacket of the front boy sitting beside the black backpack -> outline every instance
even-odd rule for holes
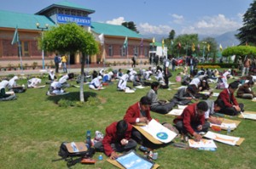
[[[106,128],[106,134],[105,134],[105,137],[103,138],[102,140],[102,144],[103,144],[103,147],[104,147],[104,151],[105,151],[105,154],[106,155],[111,155],[111,153],[114,151],[111,147],[111,144],[115,144],[115,143],[119,143],[120,144],[120,141],[121,139],[123,138],[118,138],[117,137],[117,130],[116,130],[116,126],[117,126],[117,121],[116,122],[113,122],[111,125],[109,125],[107,128]],[[129,140],[131,138],[131,129],[132,129],[132,126],[131,124],[127,123],[128,124],[128,128],[125,132],[125,139]]]

